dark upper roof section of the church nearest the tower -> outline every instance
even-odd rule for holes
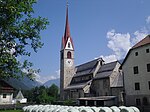
[[[78,77],[78,76],[83,76],[83,75],[87,75],[87,74],[91,74],[95,71],[97,63],[99,60],[102,60],[102,58],[98,58],[95,60],[92,60],[90,62],[87,62],[85,64],[76,66],[76,74],[74,75],[74,77]]]

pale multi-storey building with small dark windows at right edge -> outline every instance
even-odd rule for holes
[[[150,35],[129,50],[121,68],[126,105],[150,105]]]

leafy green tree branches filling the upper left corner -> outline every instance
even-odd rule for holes
[[[16,78],[25,69],[28,77],[38,70],[33,64],[17,60],[18,56],[30,56],[43,46],[40,31],[46,29],[48,20],[33,17],[36,0],[0,0],[0,78]]]

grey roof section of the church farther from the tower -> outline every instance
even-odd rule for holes
[[[94,77],[94,79],[101,79],[101,78],[109,77],[112,74],[117,62],[118,61],[102,65],[100,67],[100,69],[98,70],[98,72],[97,72],[96,76]]]

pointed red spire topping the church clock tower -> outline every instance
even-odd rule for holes
[[[74,49],[73,46],[73,41],[71,38],[71,33],[70,33],[70,25],[69,25],[69,19],[68,19],[68,1],[67,1],[67,6],[66,6],[66,25],[65,25],[65,33],[64,36],[62,38],[62,49],[66,48],[66,45],[68,43],[68,41],[70,41],[72,48]]]

